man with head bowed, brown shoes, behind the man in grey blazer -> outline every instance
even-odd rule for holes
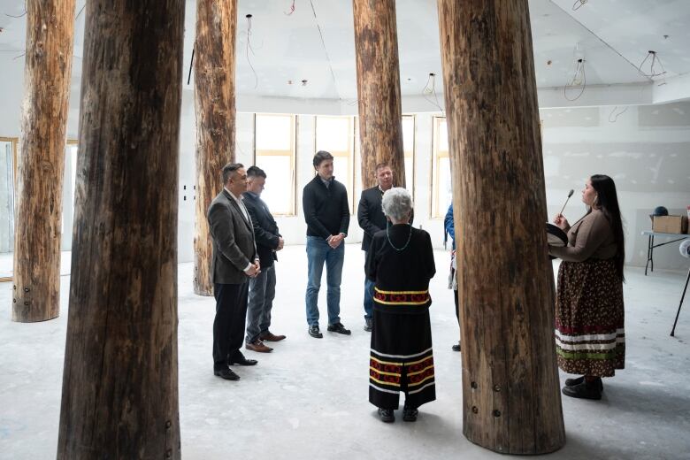
[[[274,335],[269,331],[271,310],[275,297],[275,267],[278,260],[276,251],[283,249],[283,238],[278,232],[278,224],[268,211],[268,206],[261,199],[264,191],[266,173],[257,166],[247,170],[247,191],[242,194],[243,203],[247,206],[251,223],[254,226],[254,237],[257,240],[257,252],[261,272],[249,280],[249,306],[247,307],[247,336],[244,338],[246,349],[268,353],[272,351],[264,341],[281,341],[285,335]]]

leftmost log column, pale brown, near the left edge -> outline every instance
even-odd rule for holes
[[[12,320],[60,313],[60,236],[74,0],[27,0]]]

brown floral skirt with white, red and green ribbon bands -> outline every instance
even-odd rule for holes
[[[612,377],[625,367],[623,283],[613,259],[561,263],[556,353],[563,372]]]

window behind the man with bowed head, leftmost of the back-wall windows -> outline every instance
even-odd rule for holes
[[[254,164],[266,173],[261,198],[274,215],[295,215],[295,116],[255,116]]]

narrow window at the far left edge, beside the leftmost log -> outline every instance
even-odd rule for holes
[[[0,281],[12,280],[14,270],[14,180],[16,137],[0,137]]]

